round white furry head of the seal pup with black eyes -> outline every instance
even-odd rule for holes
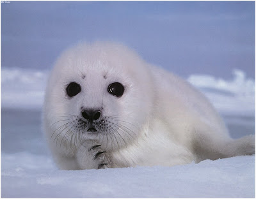
[[[86,139],[106,149],[140,136],[152,113],[150,71],[138,55],[113,43],[79,44],[56,62],[45,92],[49,142],[76,150]]]

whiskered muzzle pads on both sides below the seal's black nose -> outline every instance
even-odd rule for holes
[[[72,153],[75,153],[77,148],[84,144],[84,140],[92,139],[84,130],[88,127],[88,122],[81,119],[78,115],[63,114],[58,116],[58,118],[62,119],[55,121],[51,125],[56,125],[51,138],[60,147],[70,147]],[[95,121],[95,128],[99,129],[99,133],[95,134],[93,139],[107,144],[110,149],[115,149],[116,147],[120,149],[122,146],[127,147],[129,142],[136,140],[137,135],[134,129],[137,129],[137,127],[131,122],[126,121],[126,118],[129,117],[109,115],[103,117],[98,122]]]

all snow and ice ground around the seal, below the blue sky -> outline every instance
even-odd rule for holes
[[[255,156],[172,167],[58,170],[40,122],[47,74],[2,68],[1,197],[255,197]],[[191,75],[188,81],[221,112],[232,137],[255,133],[255,85],[243,71],[234,71],[231,80]]]

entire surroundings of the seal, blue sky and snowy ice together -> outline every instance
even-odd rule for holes
[[[47,76],[62,50],[94,40],[120,41],[188,80],[233,138],[255,133],[253,1],[1,3],[2,197],[255,196],[254,156],[58,171],[41,129]]]

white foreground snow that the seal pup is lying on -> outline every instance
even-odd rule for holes
[[[2,154],[1,182],[3,198],[254,198],[255,156],[67,171],[49,156]]]

